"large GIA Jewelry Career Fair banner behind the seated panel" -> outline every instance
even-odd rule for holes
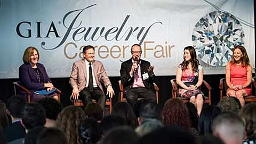
[[[175,75],[188,45],[204,74],[225,74],[237,44],[255,66],[252,0],[0,0],[0,19],[0,78],[18,78],[28,46],[50,77],[69,77],[85,45],[109,76],[119,76],[135,43],[156,76]]]

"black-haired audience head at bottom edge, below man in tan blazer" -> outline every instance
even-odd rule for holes
[[[79,134],[81,135],[83,144],[97,143],[102,135],[100,124],[93,118],[87,118],[81,123]]]

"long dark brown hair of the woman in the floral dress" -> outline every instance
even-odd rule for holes
[[[196,58],[196,50],[193,46],[187,46],[184,48],[183,51],[188,50],[190,53],[191,59],[189,61],[186,61],[183,56],[183,62],[181,64],[181,70],[187,69],[189,62],[191,62],[192,70],[196,72],[199,66],[199,61]]]

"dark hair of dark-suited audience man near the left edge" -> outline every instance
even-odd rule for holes
[[[14,118],[21,118],[21,110],[26,104],[22,95],[13,95],[6,103],[6,108]]]

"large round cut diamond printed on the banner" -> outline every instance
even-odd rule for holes
[[[244,31],[239,20],[227,12],[214,11],[195,25],[192,41],[203,62],[213,67],[226,66],[235,45],[242,45]]]

